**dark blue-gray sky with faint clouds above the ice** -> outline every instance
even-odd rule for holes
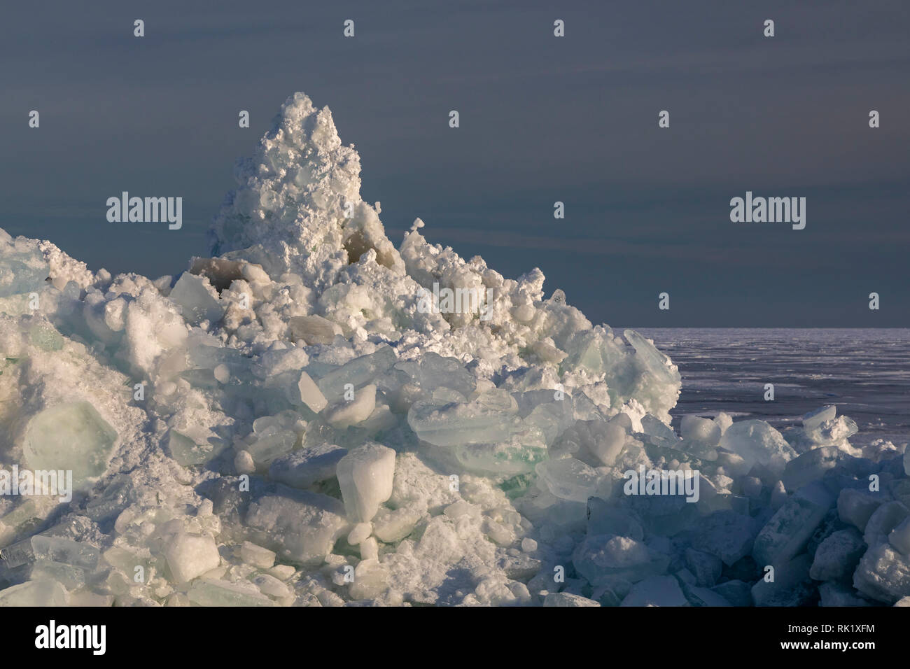
[[[92,269],[186,269],[300,90],[396,244],[423,218],[595,322],[908,327],[907,35],[905,0],[7,4],[0,227]],[[182,196],[184,228],[108,223],[123,190]],[[746,190],[807,198],[806,228],[732,223]]]

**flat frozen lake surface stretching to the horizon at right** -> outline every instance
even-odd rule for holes
[[[673,426],[687,413],[726,411],[799,424],[824,404],[850,416],[856,446],[910,441],[910,329],[639,329],[682,374]],[[764,401],[764,384],[774,400]],[[738,419],[736,419],[738,420]]]

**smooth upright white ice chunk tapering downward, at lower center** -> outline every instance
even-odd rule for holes
[[[337,467],[341,497],[350,518],[367,522],[392,494],[395,451],[370,443],[350,451]]]

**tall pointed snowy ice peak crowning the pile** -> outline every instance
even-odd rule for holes
[[[341,144],[328,106],[303,93],[288,97],[236,177],[208,233],[213,255],[314,280],[369,248],[380,264],[401,267],[378,211],[360,198],[360,157]]]

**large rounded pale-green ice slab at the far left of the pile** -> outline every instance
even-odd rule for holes
[[[36,414],[23,441],[32,470],[72,471],[73,485],[84,488],[107,469],[117,434],[87,401],[57,404]]]

